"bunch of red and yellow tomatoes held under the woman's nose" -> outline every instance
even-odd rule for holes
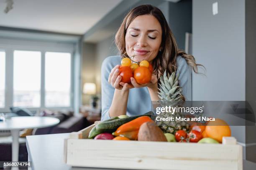
[[[119,70],[122,82],[129,83],[131,77],[134,77],[138,84],[147,84],[151,80],[153,67],[147,60],[132,63],[130,58],[125,57],[121,61]]]

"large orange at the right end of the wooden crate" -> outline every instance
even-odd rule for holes
[[[205,133],[209,138],[215,139],[220,143],[222,143],[222,137],[231,136],[229,125],[224,120],[218,118],[207,124]]]

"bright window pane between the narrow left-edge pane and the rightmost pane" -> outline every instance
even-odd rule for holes
[[[41,52],[13,52],[13,105],[40,107]]]

